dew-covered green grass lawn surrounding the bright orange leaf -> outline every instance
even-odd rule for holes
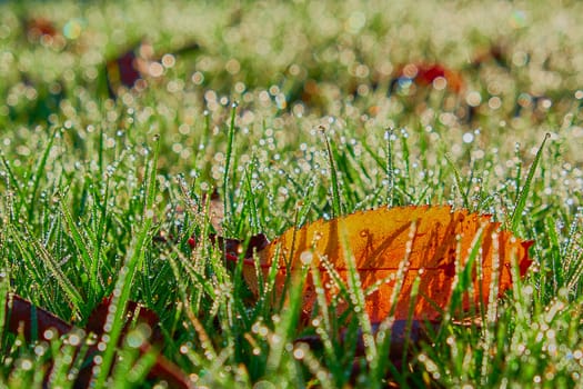
[[[0,3],[0,386],[581,387],[581,26],[576,1]],[[302,312],[217,238],[424,205],[533,241],[484,315]]]

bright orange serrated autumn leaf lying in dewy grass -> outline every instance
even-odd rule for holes
[[[500,223],[492,222],[489,216],[469,213],[466,210],[452,211],[450,207],[380,208],[330,221],[319,220],[301,229],[292,228],[258,256],[265,277],[272,261],[279,262],[275,279],[278,293],[282,292],[285,283],[287,269],[293,273],[301,269],[302,259],[305,262],[306,258],[311,258],[311,266],[320,269],[322,285],[328,286],[326,298],[331,299],[339,289],[334,287],[334,280],[324,265],[331,265],[348,285],[345,252],[351,252],[363,289],[382,282],[365,298],[365,309],[372,322],[380,322],[390,315],[398,269],[408,258],[396,299],[395,319],[406,319],[413,303],[414,320],[435,320],[441,311],[448,309],[456,267],[460,269],[466,263],[470,250],[478,243],[481,253],[476,260],[482,265],[483,278],[479,280],[479,272],[472,272],[476,292],[473,297],[464,296],[462,308],[468,310],[472,303],[479,303],[480,298],[484,303],[487,302],[494,271],[497,271],[496,295],[501,296],[512,285],[512,259],[516,259],[521,276],[531,263],[527,249],[532,242],[522,241],[509,231],[501,231]],[[409,257],[408,246],[411,248]],[[243,275],[257,295],[259,288],[253,262],[247,259],[245,263]],[[416,277],[420,277],[419,295],[415,301],[411,301]],[[311,312],[316,299],[311,275],[305,281],[303,296],[304,311]],[[344,303],[340,309],[346,307]]]

